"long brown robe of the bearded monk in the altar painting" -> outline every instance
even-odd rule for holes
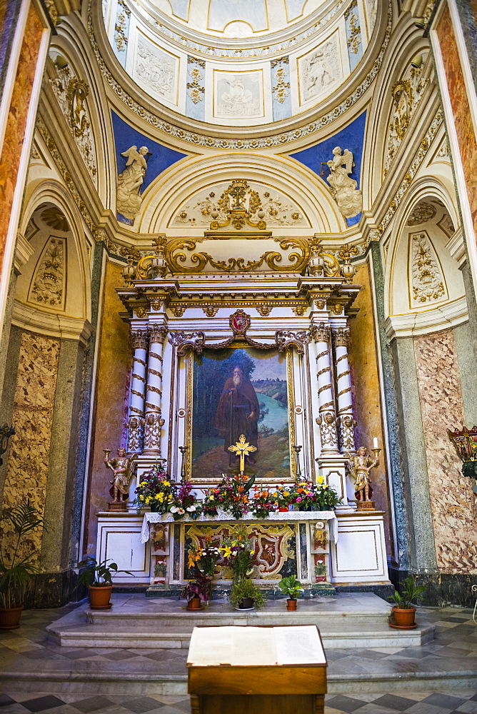
[[[214,420],[214,428],[224,439],[224,451],[227,453],[230,453],[229,446],[237,443],[242,434],[252,446],[257,446],[258,441],[260,407],[253,385],[249,379],[243,378],[236,391],[231,391],[233,388],[234,380],[229,378],[221,393]],[[247,418],[252,412],[253,418]]]

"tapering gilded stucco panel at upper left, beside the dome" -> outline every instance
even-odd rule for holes
[[[57,61],[55,66],[56,78],[50,80],[51,89],[53,89],[61,111],[68,122],[69,129],[76,141],[86,169],[88,169],[89,175],[96,185],[98,173],[96,168],[96,149],[93,130],[91,129],[91,119],[86,104],[89,86],[74,74],[69,64],[59,66]]]

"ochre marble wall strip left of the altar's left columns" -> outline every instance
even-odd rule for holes
[[[116,448],[124,443],[124,422],[129,394],[131,349],[129,325],[121,320],[124,306],[114,288],[122,285],[121,266],[106,263],[104,276],[103,317],[99,335],[99,363],[96,373],[96,411],[92,430],[91,471],[86,496],[84,550],[96,553],[96,513],[106,511],[111,501],[109,488],[111,471],[104,466],[104,448],[111,449],[111,458]],[[125,403],[126,399],[126,403]]]

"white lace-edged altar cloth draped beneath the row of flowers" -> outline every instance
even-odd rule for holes
[[[338,520],[334,511],[277,511],[276,513],[268,513],[267,518],[257,518],[253,513],[245,513],[242,518],[237,521],[231,513],[227,511],[219,511],[217,516],[204,516],[204,513],[199,518],[189,518],[184,516],[180,521],[174,521],[171,513],[144,513],[144,521],[141,529],[141,543],[147,543],[149,540],[149,523],[213,523],[217,521],[233,521],[234,523],[243,523],[248,521],[329,521],[330,540],[333,543],[338,541]]]

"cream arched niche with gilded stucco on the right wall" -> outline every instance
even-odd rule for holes
[[[388,253],[388,336],[428,334],[467,319],[462,273],[450,249],[456,216],[421,189],[404,211]]]

